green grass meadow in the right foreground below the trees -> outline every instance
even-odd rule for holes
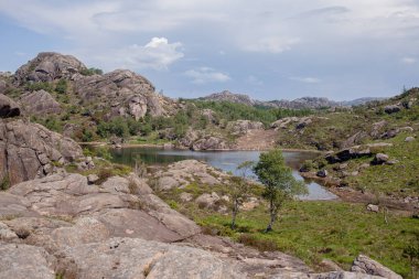
[[[409,278],[410,266],[402,250],[417,239],[418,219],[389,214],[387,225],[383,214],[369,213],[358,204],[292,202],[282,210],[273,232],[266,234],[262,230],[268,216],[265,206],[241,213],[237,230],[229,228],[229,216],[221,214],[202,215],[195,221],[207,232],[294,255],[314,269],[327,258],[347,270],[355,257],[364,254]]]

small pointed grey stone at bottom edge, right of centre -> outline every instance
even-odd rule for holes
[[[354,260],[351,271],[362,272],[374,276],[382,276],[387,279],[401,279],[402,277],[383,266],[378,261],[375,261],[367,256],[359,255]]]

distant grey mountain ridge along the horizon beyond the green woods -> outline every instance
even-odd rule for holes
[[[330,100],[324,97],[302,97],[293,100],[257,100],[250,98],[245,94],[234,94],[228,90],[224,90],[221,93],[214,93],[206,97],[198,98],[200,100],[214,100],[214,101],[230,101],[236,104],[244,104],[247,106],[261,106],[261,107],[272,107],[272,108],[288,108],[288,109],[320,109],[320,108],[329,108],[329,107],[351,107],[351,106],[359,106],[364,105],[368,101],[373,100],[383,100],[384,98],[358,98],[354,100],[345,100],[345,101],[335,101]]]

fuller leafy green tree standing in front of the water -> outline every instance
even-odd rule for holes
[[[261,153],[254,171],[265,185],[264,197],[269,202],[270,222],[265,232],[272,230],[278,212],[287,200],[307,192],[305,184],[292,176],[292,170],[284,163],[281,150]]]

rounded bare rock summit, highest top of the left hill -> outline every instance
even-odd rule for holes
[[[53,82],[60,78],[72,78],[86,66],[72,55],[54,52],[43,52],[20,68],[14,74],[18,84],[26,82]]]

